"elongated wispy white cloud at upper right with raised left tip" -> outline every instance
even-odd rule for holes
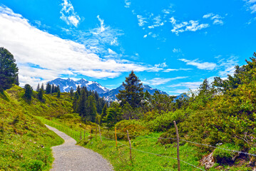
[[[203,28],[209,27],[209,24],[199,24],[199,21],[193,21],[193,20],[183,21],[178,24],[177,20],[174,19],[174,17],[170,18],[170,23],[173,24],[173,29],[171,31],[176,35],[184,31],[198,31]]]

